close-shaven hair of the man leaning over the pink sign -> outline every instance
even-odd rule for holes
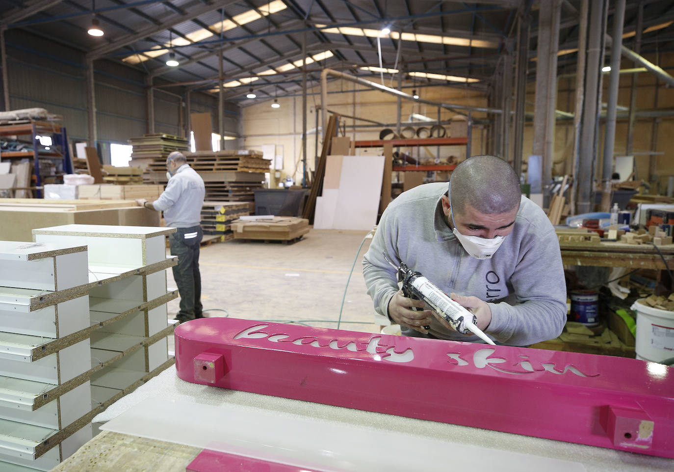
[[[466,205],[493,215],[520,205],[520,179],[510,164],[493,155],[472,156],[452,172],[449,191],[455,213],[463,215]]]

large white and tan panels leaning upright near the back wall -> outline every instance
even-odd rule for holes
[[[377,224],[383,176],[384,156],[327,156],[313,228],[371,230]]]

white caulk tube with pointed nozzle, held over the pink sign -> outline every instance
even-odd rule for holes
[[[410,286],[419,292],[420,298],[431,305],[452,328],[461,334],[473,333],[487,344],[495,344],[477,327],[477,317],[456,303],[445,292],[437,288],[419,272],[409,279]]]

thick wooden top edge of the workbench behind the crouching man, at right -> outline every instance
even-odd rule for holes
[[[630,267],[665,270],[663,258],[652,244],[625,242],[559,242],[561,261],[565,265]],[[674,244],[658,246],[670,269],[674,268]]]

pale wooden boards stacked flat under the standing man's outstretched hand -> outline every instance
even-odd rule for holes
[[[0,199],[0,221],[0,240],[28,241],[32,230],[44,226],[159,226],[159,212],[132,200]]]

